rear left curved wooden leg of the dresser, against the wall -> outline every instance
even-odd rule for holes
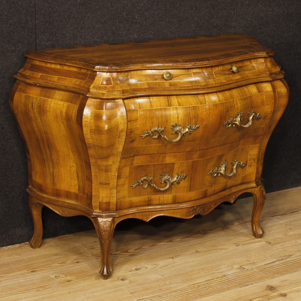
[[[43,235],[43,225],[42,225],[42,207],[43,204],[39,203],[34,197],[29,195],[28,205],[33,219],[34,232],[33,237],[29,240],[29,244],[33,249],[40,246]]]

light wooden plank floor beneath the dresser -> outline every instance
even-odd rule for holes
[[[123,221],[106,281],[95,231],[0,248],[0,300],[300,301],[300,196],[301,187],[267,195],[261,239],[251,197],[188,220]]]

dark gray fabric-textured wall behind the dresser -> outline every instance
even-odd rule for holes
[[[266,150],[267,192],[297,187],[300,152],[301,2],[283,0],[2,0],[0,9],[0,246],[29,240],[23,144],[8,105],[28,49],[247,33],[276,51],[290,102]],[[92,228],[84,217],[43,209],[44,238]]]

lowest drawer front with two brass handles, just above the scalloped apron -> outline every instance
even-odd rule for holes
[[[246,138],[240,147],[232,143],[223,148],[165,154],[164,163],[160,163],[160,154],[122,159],[116,209],[187,202],[253,182],[260,142],[260,137]],[[239,163],[233,166],[236,160]],[[227,175],[223,174],[225,164]]]

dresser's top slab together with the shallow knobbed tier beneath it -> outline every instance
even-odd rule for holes
[[[209,93],[284,77],[273,54],[244,34],[41,49],[15,77],[102,99]]]

